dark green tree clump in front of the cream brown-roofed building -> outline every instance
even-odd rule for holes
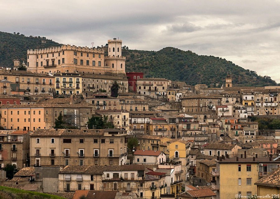
[[[87,121],[88,129],[114,129],[114,121],[110,121],[108,116],[92,116]]]

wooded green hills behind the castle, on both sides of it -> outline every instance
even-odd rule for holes
[[[0,66],[13,66],[13,59],[26,62],[28,49],[61,46],[45,37],[24,36],[20,33],[0,32]],[[276,85],[268,76],[259,76],[254,71],[245,70],[231,61],[214,56],[198,55],[192,51],[166,47],[159,51],[128,50],[126,71],[144,72],[145,77],[167,78],[185,81],[195,85],[204,83],[224,84],[230,74],[234,86]]]

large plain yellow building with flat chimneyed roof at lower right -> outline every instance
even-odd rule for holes
[[[217,191],[217,198],[235,198],[237,194],[241,196],[257,194],[257,186],[254,183],[280,165],[280,160],[255,157],[225,159],[220,157],[216,162],[216,170],[212,171],[212,175],[216,176],[217,182],[212,182],[212,189]]]

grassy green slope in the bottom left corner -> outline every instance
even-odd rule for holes
[[[21,189],[0,186],[0,199],[65,199],[46,193],[31,192]]]

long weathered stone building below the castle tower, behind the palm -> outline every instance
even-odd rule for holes
[[[85,97],[88,97],[93,92],[98,92],[102,89],[111,95],[111,83],[114,80],[117,80],[120,84],[119,92],[128,92],[128,80],[124,74],[119,74],[119,76],[84,74],[82,76],[82,92],[84,92]]]

